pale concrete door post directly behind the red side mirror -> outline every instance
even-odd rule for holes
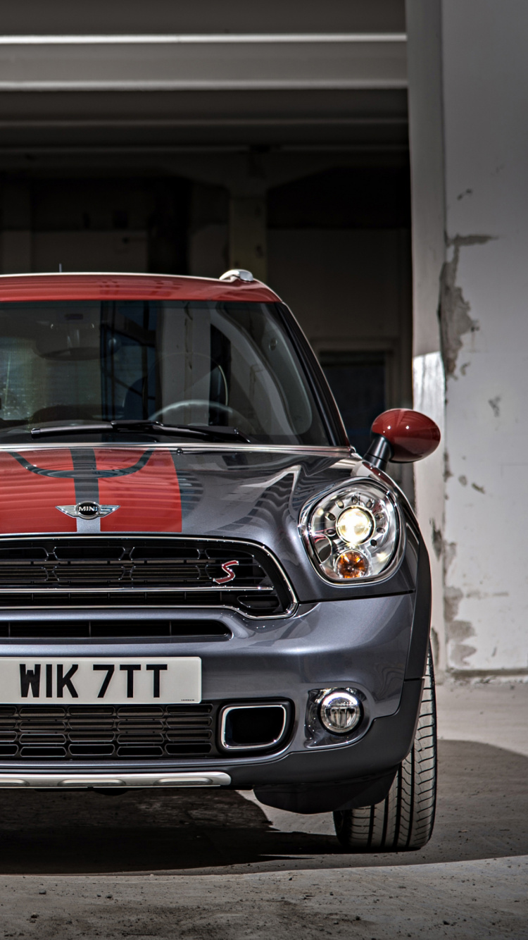
[[[412,179],[412,374],[414,407],[439,425],[443,443],[414,464],[414,494],[431,563],[431,641],[437,674],[446,666],[444,578],[444,369],[438,319],[444,248],[442,9],[407,0]]]

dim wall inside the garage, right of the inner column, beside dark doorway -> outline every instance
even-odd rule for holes
[[[270,285],[316,352],[385,352],[387,404],[410,405],[409,230],[279,228],[268,242]]]

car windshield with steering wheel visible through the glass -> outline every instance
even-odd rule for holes
[[[0,439],[61,422],[152,420],[238,428],[256,443],[329,443],[274,305],[6,303],[0,336]]]

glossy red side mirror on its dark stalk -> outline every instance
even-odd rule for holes
[[[388,461],[411,463],[432,454],[440,444],[440,428],[427,415],[393,408],[374,421],[365,461],[384,470]]]

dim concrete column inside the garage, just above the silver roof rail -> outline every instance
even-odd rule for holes
[[[229,200],[229,266],[268,277],[266,196],[235,196]]]

